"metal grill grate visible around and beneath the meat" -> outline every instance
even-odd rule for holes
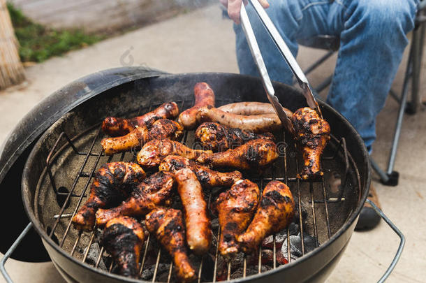
[[[235,101],[216,101],[217,105],[223,105],[226,103],[233,103]],[[179,109],[185,109],[193,105],[193,101],[179,101],[177,102]],[[133,115],[140,115],[140,113],[146,113],[156,108],[158,105],[152,105],[149,108],[141,108],[138,113],[133,113]],[[82,137],[90,138],[89,142],[83,143],[81,148],[78,145],[75,145],[77,140]],[[292,140],[286,139],[285,133],[278,133],[276,135],[279,138],[279,150],[281,156],[271,168],[265,170],[262,175],[258,177],[248,177],[253,182],[257,182],[260,190],[265,187],[265,184],[270,180],[280,180],[288,184],[288,187],[291,188],[295,201],[298,203],[298,207],[302,208],[304,201],[309,203],[308,205],[308,217],[303,223],[302,213],[299,213],[299,227],[300,227],[300,238],[301,241],[301,252],[302,256],[305,252],[304,245],[304,233],[311,233],[318,240],[319,245],[322,245],[324,242],[330,239],[330,237],[335,233],[341,224],[344,223],[346,219],[337,219],[339,218],[338,213],[343,207],[346,200],[347,191],[360,191],[360,176],[358,169],[356,168],[353,160],[348,156],[346,150],[346,143],[344,139],[337,140],[332,136],[332,140],[328,147],[325,150],[325,156],[323,157],[323,170],[325,171],[325,176],[330,176],[332,174],[338,174],[340,177],[340,186],[338,191],[332,191],[330,184],[326,180],[325,176],[321,180],[317,181],[304,181],[298,179],[296,173],[300,170],[301,157],[300,154],[295,150],[295,145]],[[66,139],[66,144],[57,149],[59,141],[61,139]],[[62,247],[67,252],[74,256],[75,259],[82,261],[83,263],[90,264],[95,268],[101,268],[101,265],[105,265],[103,269],[108,270],[108,272],[113,272],[115,263],[112,261],[110,256],[104,251],[103,247],[99,247],[98,255],[96,260],[88,261],[89,252],[93,248],[93,245],[98,242],[98,232],[93,231],[91,233],[75,231],[73,226],[71,226],[71,219],[78,212],[80,205],[84,203],[85,197],[89,193],[87,188],[91,184],[94,173],[99,166],[103,163],[115,161],[135,161],[135,154],[133,153],[122,153],[115,154],[115,156],[105,157],[99,142],[103,138],[100,126],[96,125],[91,129],[87,130],[85,133],[82,133],[80,136],[73,139],[69,138],[66,133],[61,133],[58,140],[54,143],[52,150],[50,151],[47,160],[45,172],[47,172],[48,177],[41,177],[41,184],[39,187],[43,187],[43,184],[46,187],[50,188],[50,193],[54,193],[58,198],[62,198],[62,205],[59,211],[55,212],[54,215],[50,215],[52,219],[52,226],[47,227],[47,233],[49,236],[56,240],[59,247]],[[278,140],[278,139],[277,139]],[[186,131],[181,140],[182,143],[187,146],[191,146],[193,143],[193,131]],[[59,159],[61,154],[66,152],[66,149],[70,150],[70,154],[73,157],[73,166],[60,166],[60,164],[55,164],[55,161]],[[118,160],[117,160],[118,161]],[[57,187],[59,184],[55,176],[58,175],[58,172],[61,170],[68,170],[69,168],[75,168],[75,172],[70,172],[68,175],[74,175],[72,185],[70,189],[64,190]],[[85,180],[86,179],[86,180]],[[43,182],[44,181],[44,182]],[[82,184],[80,184],[82,183]],[[40,189],[39,189],[40,191]],[[359,197],[359,196],[358,196]],[[213,193],[210,191],[206,198],[208,198],[208,207],[210,208],[210,203],[212,202]],[[331,212],[330,212],[331,211]],[[346,217],[350,215],[351,212],[345,214]],[[332,215],[330,219],[330,215]],[[214,222],[214,219],[212,219]],[[60,228],[59,228],[60,227]],[[306,228],[307,227],[307,228]],[[309,231],[306,231],[309,230]],[[219,239],[221,230],[220,226],[214,227],[213,230],[214,237]],[[291,241],[290,241],[290,231],[287,228],[287,259],[291,262],[293,259],[291,257]],[[172,268],[173,264],[170,260],[170,256],[166,252],[162,252],[159,248],[156,240],[152,238],[151,235],[147,236],[145,241],[144,250],[142,252],[142,259],[140,259],[140,275],[144,270],[153,269],[152,272],[152,282],[156,282],[159,279],[159,267],[166,264],[168,270],[163,271],[163,278],[166,278],[167,282],[173,280]],[[249,267],[252,273],[252,270],[256,266],[249,266],[249,261],[247,261],[247,255],[243,256],[241,266],[235,266],[235,262],[227,263],[227,270],[223,270],[222,266],[219,266],[219,261],[221,260],[220,254],[218,254],[217,245],[214,247],[215,254],[214,259],[207,258],[208,255],[198,257],[196,262],[198,263],[198,282],[205,282],[206,276],[204,274],[210,273],[207,276],[207,281],[216,282],[219,279],[233,279],[237,275],[233,275],[232,270],[240,267],[242,268],[242,277],[246,277],[248,274]],[[148,256],[152,251],[156,252],[155,262],[148,260]],[[262,272],[262,247],[260,246],[258,252],[258,261],[257,261],[257,272]],[[207,262],[208,261],[208,262]],[[223,263],[223,261],[221,261]],[[107,264],[108,263],[108,264]],[[238,263],[240,264],[240,263]],[[277,245],[276,245],[276,236],[273,236],[273,263],[272,268],[279,268],[277,266]],[[165,270],[165,268],[162,268]],[[226,278],[218,278],[218,274],[221,272],[221,275],[226,274]],[[165,277],[167,275],[167,277]],[[240,277],[240,275],[238,275]]]

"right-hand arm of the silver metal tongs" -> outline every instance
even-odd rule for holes
[[[300,68],[295,57],[293,57],[293,54],[291,53],[290,49],[288,49],[288,46],[279,34],[279,31],[275,27],[274,23],[265,12],[265,9],[260,5],[258,0],[250,0],[250,3],[251,5],[253,5],[254,10],[260,17],[260,21],[265,26],[265,29],[270,34],[272,41],[274,41],[275,45],[277,45],[279,52],[281,52],[281,55],[284,57],[291,71],[295,75],[296,80],[298,80],[300,87],[303,89],[303,95],[307,101],[308,106],[310,108],[315,109],[322,118],[323,114],[321,113],[321,109],[318,106],[318,102],[316,102],[314,94],[311,90],[311,86],[309,85],[309,82],[306,76],[304,75],[302,68]]]

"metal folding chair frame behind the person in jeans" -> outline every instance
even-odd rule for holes
[[[406,63],[406,71],[404,75],[404,82],[402,85],[401,94],[397,94],[394,90],[390,89],[390,97],[395,99],[399,103],[399,112],[397,116],[397,122],[395,125],[395,133],[392,140],[392,147],[390,149],[388,168],[383,170],[378,164],[370,157],[372,168],[379,175],[381,182],[388,186],[397,186],[399,173],[393,170],[395,166],[395,158],[397,154],[397,148],[399,143],[399,136],[401,135],[402,120],[404,118],[404,113],[409,115],[414,115],[420,109],[425,108],[425,103],[421,101],[421,95],[419,93],[420,88],[420,70],[421,62],[423,57],[423,48],[425,43],[425,30],[426,30],[426,0],[420,1],[418,6],[418,14],[416,16],[416,27],[413,30],[409,59]],[[309,42],[301,41],[301,45],[310,46],[312,48],[319,48],[324,50],[329,50],[329,52],[317,61],[314,64],[311,64],[306,70],[304,70],[305,75],[314,71],[318,66],[320,66],[325,60],[330,58],[335,52],[339,50],[339,38],[336,36],[317,36]],[[408,101],[409,94],[409,82],[411,80],[411,100]],[[332,75],[326,78],[318,86],[314,87],[316,93],[320,93],[328,87],[332,82]]]

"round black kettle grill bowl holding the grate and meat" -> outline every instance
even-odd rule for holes
[[[66,136],[71,138],[71,142],[75,143],[78,149],[80,147],[90,148],[90,152],[87,154],[89,161],[85,161],[89,165],[87,169],[83,168],[84,172],[80,174],[82,176],[89,173],[89,175],[85,176],[84,180],[80,180],[83,183],[86,182],[89,184],[87,177],[90,180],[90,170],[88,168],[96,168],[96,164],[92,164],[96,162],[100,166],[106,160],[105,158],[107,158],[99,155],[101,154],[98,145],[99,137],[96,136],[98,135],[98,124],[104,117],[130,117],[131,115],[138,115],[138,112],[147,112],[154,105],[159,105],[166,101],[177,101],[179,110],[184,110],[184,108],[191,107],[193,85],[200,81],[205,81],[212,86],[216,94],[217,106],[235,101],[266,102],[265,92],[258,78],[226,73],[160,75],[156,78],[145,78],[117,85],[89,99],[70,113],[61,117],[41,136],[40,140],[34,146],[25,165],[22,177],[24,207],[36,231],[41,235],[43,244],[54,265],[57,266],[59,272],[68,282],[94,282],[95,280],[101,280],[101,282],[122,282],[123,280],[140,282],[140,280],[132,280],[109,273],[100,268],[95,268],[90,264],[82,263],[78,256],[71,256],[70,250],[73,249],[73,241],[68,242],[69,239],[66,239],[64,242],[61,242],[62,239],[60,237],[64,233],[69,233],[70,236],[68,238],[73,238],[75,231],[66,232],[66,227],[61,224],[57,224],[58,228],[52,233],[53,235],[58,233],[58,237],[50,237],[49,234],[51,233],[52,226],[54,227],[55,225],[53,216],[57,215],[60,210],[60,205],[54,203],[55,200],[52,200],[52,186],[55,186],[56,189],[59,189],[61,186],[72,187],[73,184],[69,184],[64,180],[72,181],[73,177],[70,175],[78,171],[78,168],[74,167],[82,163],[82,161],[80,163],[74,162],[73,159],[85,159],[83,153],[70,153],[73,149],[67,139],[64,138],[63,133],[66,133]],[[296,110],[306,105],[306,101],[304,101],[298,89],[280,83],[275,84],[274,87],[277,91],[279,101],[287,108]],[[178,101],[182,103],[179,104]],[[284,266],[279,266],[279,268],[250,275],[245,278],[236,278],[233,279],[233,282],[245,282],[247,280],[252,282],[264,282],[264,280],[270,280],[271,282],[282,282],[283,280],[288,280],[289,282],[323,281],[337,264],[346,248],[348,240],[351,238],[356,219],[358,218],[362,204],[367,198],[369,189],[370,171],[368,154],[360,136],[351,124],[339,115],[339,113],[330,108],[330,106],[327,106],[321,101],[319,103],[324,118],[330,123],[332,135],[334,136],[332,146],[330,145],[326,153],[328,156],[335,156],[335,160],[339,164],[336,170],[342,176],[342,182],[347,179],[344,182],[347,186],[337,196],[339,204],[336,209],[333,208],[332,205],[335,204],[331,201],[328,205],[316,203],[314,193],[311,192],[310,194],[312,198],[311,203],[308,201],[309,205],[312,206],[312,203],[314,203],[314,206],[316,205],[317,207],[322,207],[321,205],[328,206],[329,211],[325,209],[325,212],[328,212],[331,217],[330,219],[332,219],[331,223],[329,223],[328,215],[327,219],[324,220],[321,217],[323,213],[319,212],[317,212],[317,217],[313,217],[314,219],[318,218],[318,220],[313,220],[311,226],[321,226],[321,224],[316,224],[316,221],[320,222],[324,220],[327,222],[327,225],[322,226],[323,228],[314,228],[314,232],[318,233],[318,240],[320,240],[321,245],[316,247],[312,252],[304,254],[300,259],[291,261],[291,263]],[[186,138],[188,138],[188,135],[186,135]],[[341,150],[343,148],[343,145],[341,145],[342,138],[346,140],[347,156],[345,156],[344,150]],[[286,143],[291,143],[289,139],[284,138],[284,140]],[[52,152],[52,148],[56,148],[57,150]],[[290,151],[291,146],[287,150]],[[287,152],[287,154],[289,153]],[[128,161],[128,158],[124,155],[121,158]],[[46,159],[52,161],[49,170],[53,178],[49,178],[49,174],[46,172]],[[324,164],[332,164],[333,162],[324,161]],[[342,165],[345,162],[347,168],[344,168],[344,165]],[[66,170],[59,170],[62,166],[65,166],[65,168],[66,166],[69,167],[69,175]],[[277,167],[279,166],[282,165],[277,165]],[[291,176],[295,175],[297,168],[294,168],[290,164],[287,167],[288,170],[285,172],[281,170],[272,177],[281,177],[282,180],[288,181],[292,191],[295,189],[307,191],[307,196],[309,196],[311,189],[316,189],[318,186],[321,188],[320,184],[315,184],[311,187],[308,183],[300,184],[297,180],[291,180]],[[52,182],[55,184],[52,184]],[[50,187],[50,189],[47,187]],[[87,189],[85,194],[89,194],[89,189]],[[342,196],[344,196],[344,201],[342,201]],[[328,197],[328,199],[331,199],[331,197]],[[75,200],[71,200],[69,207],[75,207]],[[315,210],[312,211],[314,214]],[[323,210],[320,211],[324,212]],[[65,223],[68,223],[68,220]],[[84,241],[83,239],[82,242]],[[82,254],[84,253],[82,251]]]

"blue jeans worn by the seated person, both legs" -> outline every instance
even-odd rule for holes
[[[339,36],[327,103],[351,122],[369,152],[417,5],[418,0],[270,0],[266,9],[295,57],[299,40]],[[247,13],[271,79],[291,85],[293,75],[251,5]],[[241,25],[234,24],[234,30],[240,72],[258,75]]]

